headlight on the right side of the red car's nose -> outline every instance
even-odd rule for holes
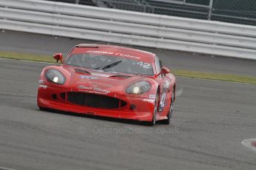
[[[135,84],[131,84],[126,89],[126,93],[134,94],[134,95],[141,95],[143,92],[147,92],[151,89],[151,84],[148,81],[139,81]]]

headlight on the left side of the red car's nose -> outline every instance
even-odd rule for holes
[[[57,69],[48,69],[45,72],[45,78],[53,84],[65,84],[66,78]]]

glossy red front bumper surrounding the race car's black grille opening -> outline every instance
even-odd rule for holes
[[[154,99],[114,95],[126,102],[125,106],[115,109],[104,109],[91,106],[81,106],[68,101],[71,89],[39,84],[37,104],[39,107],[57,109],[65,112],[76,112],[88,115],[99,115],[110,118],[124,118],[140,121],[151,121],[154,113]]]

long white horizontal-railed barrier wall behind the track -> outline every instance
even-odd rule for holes
[[[42,0],[0,0],[0,29],[256,59],[256,27]]]

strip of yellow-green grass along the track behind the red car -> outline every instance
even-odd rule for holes
[[[53,56],[50,55],[36,55],[30,53],[20,53],[20,52],[1,52],[0,58],[12,58],[16,60],[27,60],[27,61],[42,61],[47,63],[55,63]],[[246,84],[255,84],[256,85],[256,77],[249,77],[243,75],[227,75],[221,73],[214,72],[197,72],[197,71],[189,71],[183,69],[171,69],[174,75],[187,77],[187,78],[203,78],[203,79],[211,79],[218,81],[232,81]]]

